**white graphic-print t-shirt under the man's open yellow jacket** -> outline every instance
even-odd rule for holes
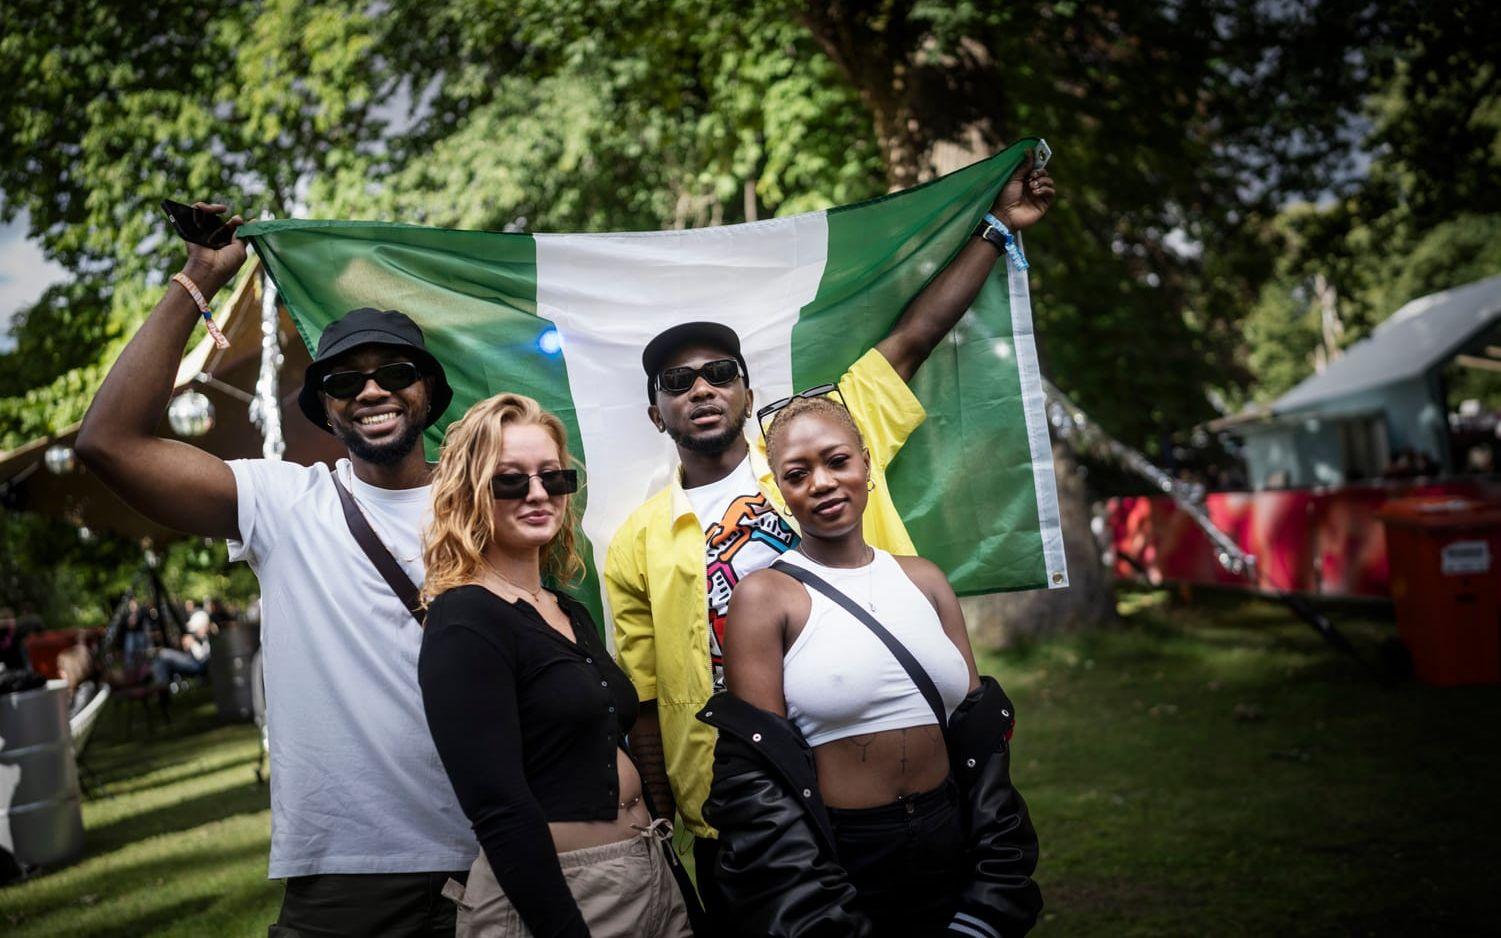
[[[704,567],[708,575],[708,660],[714,690],[725,689],[725,615],[729,591],[741,578],[772,566],[797,546],[797,533],[761,494],[750,458],[719,482],[683,489],[704,525]]]

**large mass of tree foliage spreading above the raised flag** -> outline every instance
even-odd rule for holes
[[[1270,266],[1247,231],[1348,171],[1384,29],[1355,0],[17,0],[8,18],[0,212],[24,209],[80,279],[66,315],[51,297],[17,327],[74,351],[18,378],[6,443],[75,419],[150,306],[177,251],[162,195],[707,225],[877,195],[944,146],[1024,134],[1054,144],[1063,186],[1031,237],[1046,366],[1150,441],[1207,414],[1205,384],[1246,380],[1240,311]],[[1117,392],[1123,368],[1138,393]]]

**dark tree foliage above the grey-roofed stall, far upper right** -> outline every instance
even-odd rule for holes
[[[1270,399],[1313,371],[1316,276],[1339,293],[1343,344],[1408,300],[1501,273],[1501,8],[1402,6],[1363,114],[1367,173],[1264,233],[1276,258],[1247,317]]]

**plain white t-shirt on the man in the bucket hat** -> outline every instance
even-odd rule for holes
[[[245,560],[261,581],[272,755],[270,876],[468,869],[479,852],[428,734],[422,627],[371,564],[323,465],[230,462]],[[431,486],[336,471],[414,582]]]

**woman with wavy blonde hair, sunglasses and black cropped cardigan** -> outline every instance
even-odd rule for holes
[[[449,428],[423,542],[428,726],[482,852],[458,935],[689,935],[626,749],[636,693],[588,611],[563,423],[495,395]]]

